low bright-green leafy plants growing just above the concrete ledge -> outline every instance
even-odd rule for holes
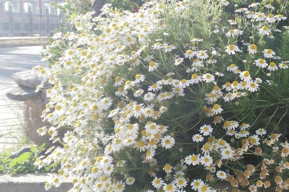
[[[58,163],[53,163],[38,169],[34,164],[36,158],[41,157],[45,144],[40,147],[31,146],[30,152],[22,153],[19,157],[10,159],[11,151],[0,153],[0,173],[15,175],[20,173],[54,173],[59,169]]]

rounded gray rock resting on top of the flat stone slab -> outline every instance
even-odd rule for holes
[[[17,84],[33,89],[35,89],[37,85],[41,84],[41,78],[39,78],[38,73],[33,70],[13,73],[12,77]]]

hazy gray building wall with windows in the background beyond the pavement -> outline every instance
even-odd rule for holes
[[[63,0],[0,0],[0,36],[47,36],[59,25],[61,13],[49,2]]]

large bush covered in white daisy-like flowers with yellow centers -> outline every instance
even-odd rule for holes
[[[63,144],[36,162],[61,162],[47,190],[64,178],[71,192],[289,189],[287,17],[226,0],[92,14],[71,18],[35,69],[53,125],[38,132]]]

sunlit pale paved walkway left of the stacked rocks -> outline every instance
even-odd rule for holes
[[[41,46],[0,48],[0,151],[17,142],[17,131],[21,127],[22,102],[12,101],[5,94],[16,83],[12,73],[31,70],[41,62]]]

